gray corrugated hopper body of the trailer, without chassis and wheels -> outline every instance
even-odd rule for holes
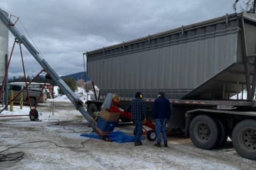
[[[89,51],[87,72],[103,93],[121,97],[227,99],[246,88],[242,39],[254,61],[255,37],[255,15],[234,13]]]

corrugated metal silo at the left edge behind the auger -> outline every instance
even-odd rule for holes
[[[1,9],[0,9],[1,10]],[[1,10],[8,16],[8,13]],[[0,83],[5,75],[5,55],[8,54],[8,29],[0,21]]]

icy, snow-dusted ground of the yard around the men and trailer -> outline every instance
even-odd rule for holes
[[[0,162],[1,170],[34,169],[256,169],[256,162],[241,158],[228,142],[219,150],[196,148],[188,138],[168,138],[169,147],[154,147],[155,142],[143,140],[143,146],[133,143],[104,142],[80,136],[90,133],[91,128],[84,117],[70,102],[48,101],[39,104],[39,119],[32,122],[25,117],[0,117],[0,151],[22,142],[49,140],[60,146],[84,148],[61,148],[53,143],[40,142],[23,144],[5,151],[25,152],[20,161]],[[52,109],[53,108],[53,112]],[[15,112],[1,114],[26,114],[15,107]],[[0,114],[0,115],[1,115]],[[27,113],[28,114],[28,113]],[[132,134],[133,126],[120,125],[116,129]],[[145,136],[146,137],[146,136]],[[2,153],[1,153],[2,154]]]

